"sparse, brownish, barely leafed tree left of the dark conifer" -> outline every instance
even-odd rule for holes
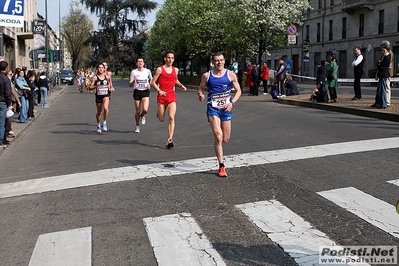
[[[90,47],[85,43],[88,32],[93,30],[93,22],[89,17],[78,9],[78,2],[72,1],[69,14],[62,18],[62,34],[65,36],[65,43],[72,58],[72,69],[77,70],[81,67],[86,53],[90,52]]]

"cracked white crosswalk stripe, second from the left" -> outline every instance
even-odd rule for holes
[[[158,265],[225,265],[189,213],[145,218]]]

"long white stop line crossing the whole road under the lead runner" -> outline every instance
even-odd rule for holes
[[[399,137],[225,156],[228,168],[399,148]],[[173,165],[174,167],[170,167]],[[111,168],[0,184],[0,198],[217,169],[216,157]]]

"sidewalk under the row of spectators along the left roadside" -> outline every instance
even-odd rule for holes
[[[18,122],[18,114],[17,113],[14,114],[13,120],[12,120],[12,131],[14,131],[17,135],[14,138],[7,138],[7,140],[10,141],[10,144],[8,144],[7,147],[5,147],[5,148],[0,148],[0,155],[5,149],[12,148],[12,145],[15,144],[16,142],[18,142],[19,138],[25,134],[25,132],[27,131],[27,129],[30,126],[34,125],[35,122],[38,119],[40,119],[40,117],[44,113],[51,110],[52,103],[55,101],[55,99],[57,99],[58,96],[60,96],[64,92],[64,90],[66,88],[68,88],[67,85],[60,85],[60,86],[54,87],[53,91],[49,93],[48,98],[47,98],[47,102],[50,107],[44,108],[44,107],[40,107],[40,106],[35,106],[34,111],[36,111],[36,112],[35,112],[34,120],[26,120],[26,123],[19,123]]]

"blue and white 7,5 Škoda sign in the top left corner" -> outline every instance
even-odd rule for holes
[[[23,0],[0,0],[0,26],[24,27]]]

